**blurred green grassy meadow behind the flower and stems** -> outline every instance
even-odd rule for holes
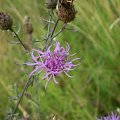
[[[37,79],[20,103],[20,118],[29,115],[30,120],[95,120],[120,108],[120,0],[76,0],[74,5],[76,18],[68,23],[74,31],[65,30],[56,40],[63,46],[67,41],[70,53],[77,53],[81,64],[70,72],[73,78],[57,78],[62,85],[51,80],[45,90],[46,81]],[[22,41],[24,16],[30,16],[33,39],[41,41],[36,43],[39,48],[43,46],[47,31],[43,18],[48,20],[43,0],[0,0],[0,11],[12,16]],[[26,73],[31,71],[15,64],[28,59],[23,48],[12,41],[10,32],[0,30],[0,120],[15,107],[15,101],[9,99],[15,95],[14,87],[21,92],[28,79]]]

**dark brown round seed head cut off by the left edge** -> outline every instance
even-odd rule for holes
[[[12,18],[4,12],[0,12],[0,29],[1,30],[11,30],[13,25]]]

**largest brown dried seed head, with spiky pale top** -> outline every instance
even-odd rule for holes
[[[70,3],[58,3],[58,18],[64,23],[68,23],[74,20],[76,11],[73,4]]]

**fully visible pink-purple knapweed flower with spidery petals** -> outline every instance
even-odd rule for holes
[[[75,58],[70,61],[70,57],[72,55],[69,54],[69,45],[67,44],[66,49],[60,46],[60,43],[56,43],[55,49],[51,52],[52,45],[45,51],[40,51],[33,49],[31,56],[34,63],[26,63],[28,66],[34,66],[34,70],[30,73],[29,77],[31,77],[35,72],[45,72],[45,76],[43,80],[46,79],[46,86],[50,79],[53,79],[57,84],[58,82],[55,79],[55,76],[59,76],[61,73],[65,73],[68,77],[71,77],[68,74],[68,71],[73,70],[75,66],[73,61],[79,59]],[[34,54],[37,53],[35,56]]]

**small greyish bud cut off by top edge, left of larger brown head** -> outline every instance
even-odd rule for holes
[[[58,0],[45,0],[45,6],[48,9],[56,9]]]

